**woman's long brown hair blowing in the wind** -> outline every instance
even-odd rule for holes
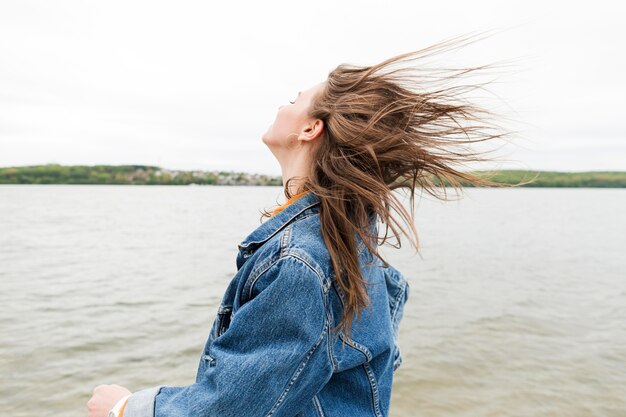
[[[309,115],[324,122],[324,131],[310,173],[297,192],[312,191],[321,199],[322,235],[344,296],[343,317],[334,330],[342,329],[348,339],[354,315],[360,316],[369,304],[355,233],[386,266],[377,246],[388,239],[389,228],[398,242],[392,246],[400,248],[401,232],[419,251],[413,219],[416,188],[446,200],[449,186],[456,191],[464,185],[503,186],[460,169],[466,163],[492,160],[484,157],[486,151],[467,145],[509,134],[488,121],[491,112],[464,97],[487,83],[455,83],[490,67],[419,65],[468,41],[444,41],[373,66],[339,65],[312,102]],[[419,61],[418,65],[402,66],[412,61]],[[296,177],[284,185],[287,198],[292,196],[292,180]],[[410,191],[410,213],[394,195],[402,188]],[[371,216],[385,224],[384,237],[368,234]]]

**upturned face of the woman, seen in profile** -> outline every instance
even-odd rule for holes
[[[324,84],[322,82],[308,90],[296,93],[297,95],[291,102],[278,107],[274,123],[269,126],[267,132],[263,135],[263,143],[272,152],[299,145],[298,136],[313,121],[309,116],[311,102],[316,94],[322,91]]]

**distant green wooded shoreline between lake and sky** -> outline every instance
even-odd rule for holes
[[[473,171],[520,187],[626,188],[626,171]],[[234,171],[183,171],[152,165],[31,165],[0,168],[0,184],[260,185],[281,186],[280,176]],[[463,184],[468,185],[468,184]]]

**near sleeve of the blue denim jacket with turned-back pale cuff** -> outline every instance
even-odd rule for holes
[[[252,298],[207,344],[196,383],[134,393],[124,417],[293,417],[330,380],[327,287],[307,262],[278,258],[254,280]]]

